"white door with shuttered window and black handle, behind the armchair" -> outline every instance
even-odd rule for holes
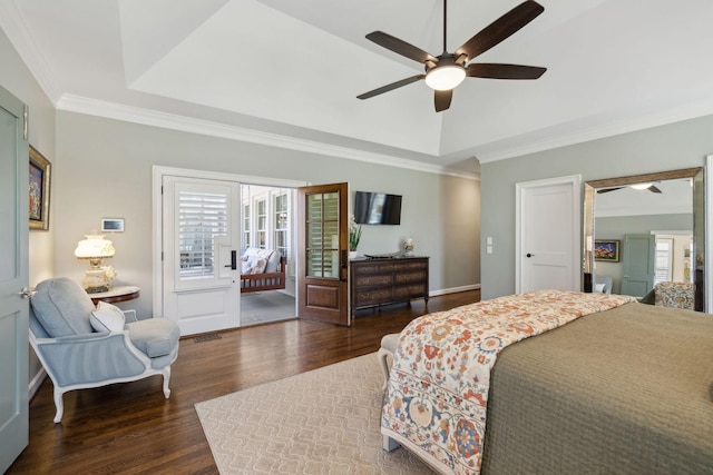
[[[163,316],[182,335],[240,326],[240,184],[163,178]]]

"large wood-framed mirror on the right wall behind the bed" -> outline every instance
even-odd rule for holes
[[[655,283],[687,281],[704,311],[703,176],[696,167],[585,182],[584,291],[647,297]]]

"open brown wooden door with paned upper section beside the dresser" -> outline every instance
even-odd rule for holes
[[[297,189],[297,316],[351,325],[349,313],[348,185]]]

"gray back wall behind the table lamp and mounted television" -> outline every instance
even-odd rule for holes
[[[86,263],[74,257],[82,235],[102,217],[125,218],[110,239],[117,285],[141,288],[123,304],[152,314],[152,167],[229,172],[310,184],[348,181],[355,190],[403,195],[400,226],[364,226],[360,253],[390,253],[412,237],[430,256],[430,289],[439,293],[480,283],[480,182],[335,159],[74,112],[57,113],[57,274],[80,280]],[[351,210],[351,205],[350,205]],[[130,305],[129,305],[130,304]]]

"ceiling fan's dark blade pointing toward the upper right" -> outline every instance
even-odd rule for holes
[[[482,55],[533,21],[543,11],[545,11],[545,8],[534,0],[520,3],[466,41],[463,46],[456,50],[456,57],[466,55],[470,60]]]

